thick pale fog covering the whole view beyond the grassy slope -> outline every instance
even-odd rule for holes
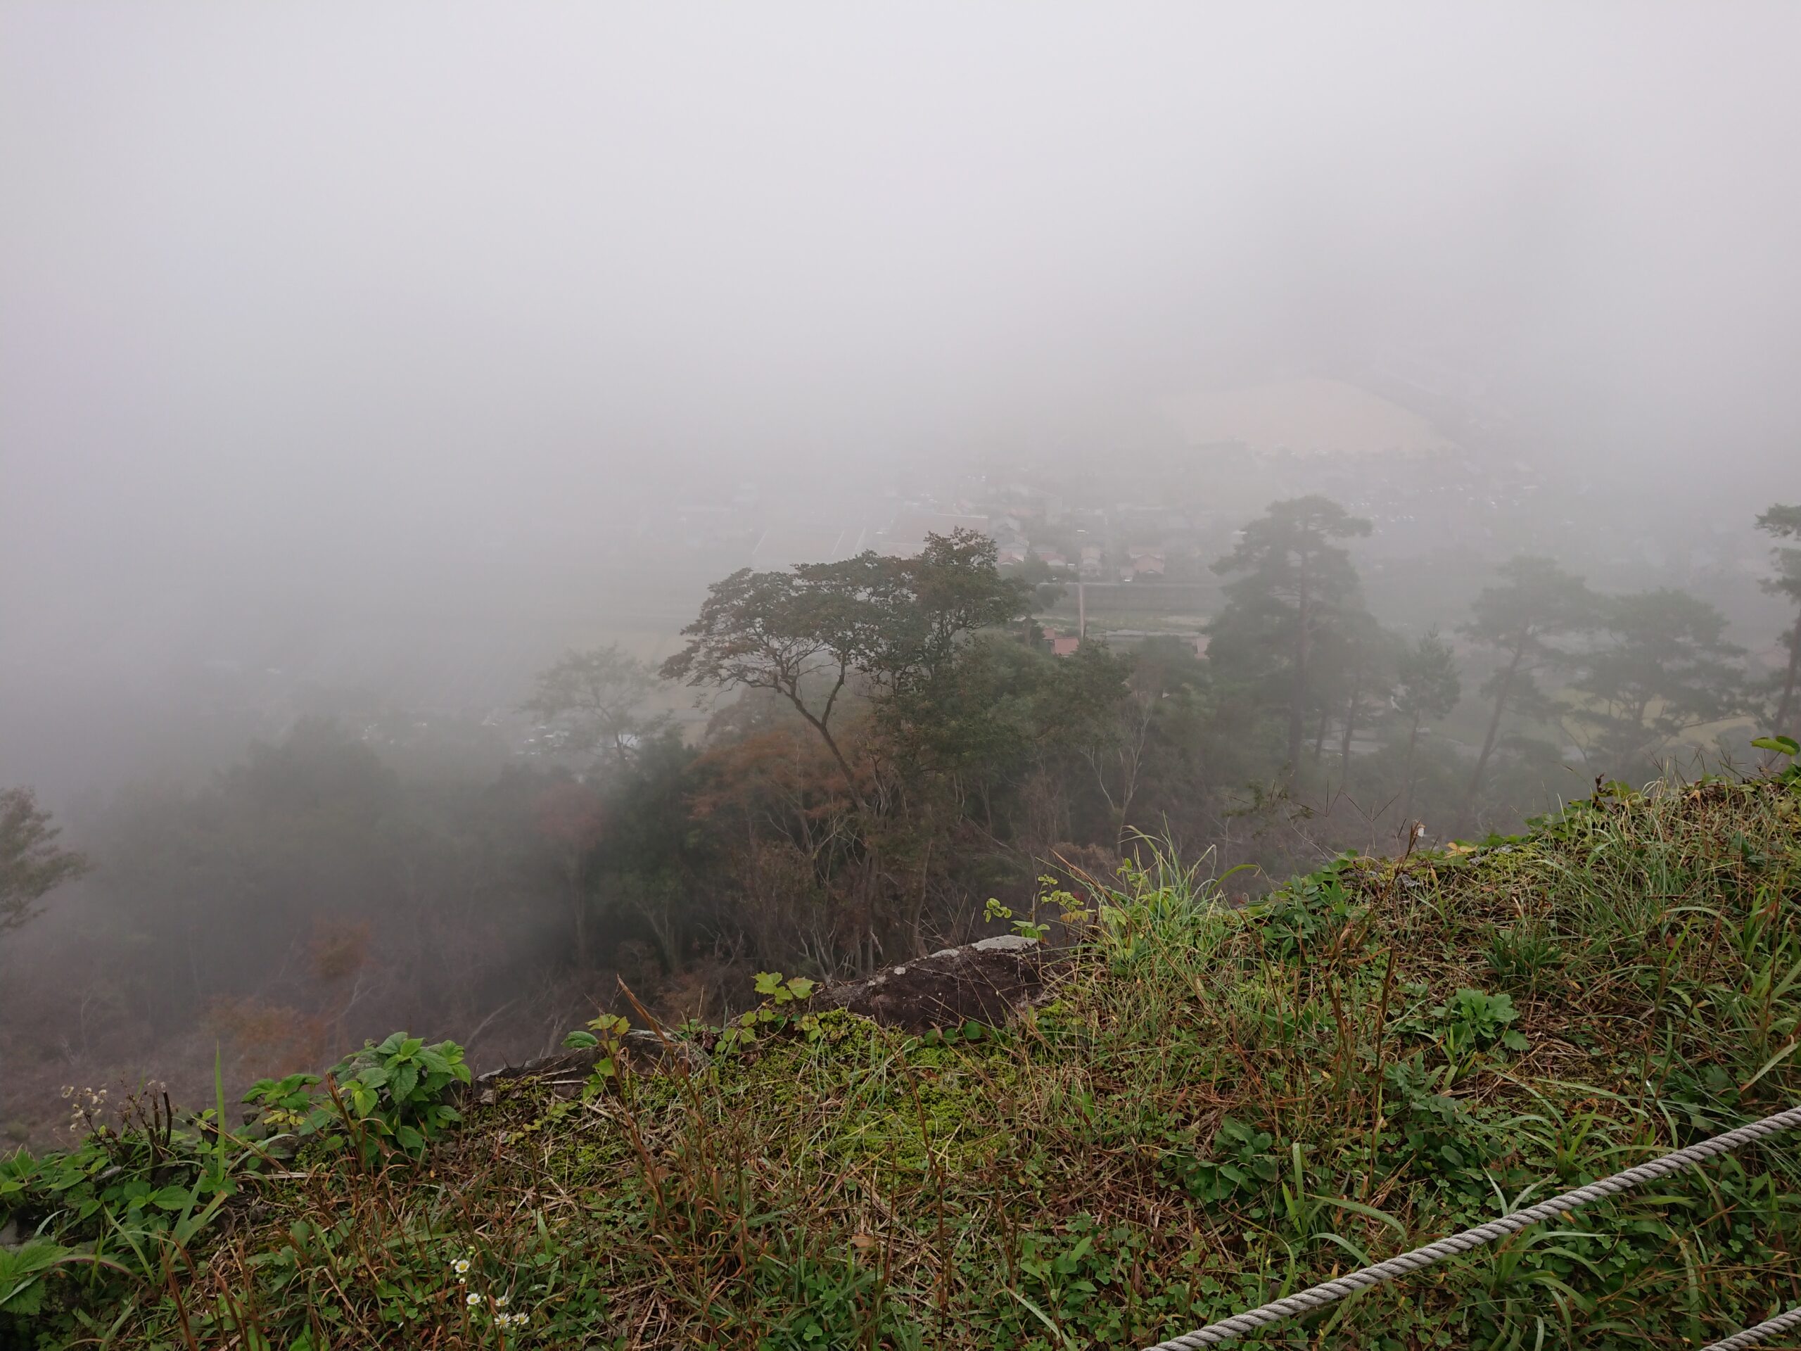
[[[1792,4],[0,5],[0,1151],[76,1084],[719,1018],[1147,839],[1243,895],[1761,773],[1796,52]],[[769,630],[837,685],[735,679]]]

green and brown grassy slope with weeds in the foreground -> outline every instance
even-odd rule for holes
[[[1796,778],[1605,798],[1237,913],[1127,874],[1016,1029],[526,1081],[421,1167],[247,1176],[166,1279],[50,1308],[121,1347],[1140,1346],[1801,1101],[1797,821]],[[1796,1192],[1794,1140],[1752,1147],[1263,1340],[1693,1346],[1801,1301]]]

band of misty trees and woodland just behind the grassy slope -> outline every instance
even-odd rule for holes
[[[1796,508],[1758,526],[1765,587],[1801,609]],[[1147,839],[1252,865],[1230,890],[1257,895],[1597,782],[1756,766],[1751,739],[1797,722],[1801,627],[1751,661],[1707,602],[1529,557],[1455,621],[1385,625],[1351,553],[1367,530],[1275,503],[1214,562],[1203,643],[1061,656],[1039,623],[1061,584],[969,531],[744,569],[661,670],[616,645],[549,665],[519,692],[529,757],[492,728],[398,755],[303,719],[211,782],[121,789],[38,839],[63,872],[9,883],[7,1129],[50,1142],[68,1084],[204,1102],[216,1057],[236,1088],[393,1027],[519,1059],[623,1011],[621,980],[670,1021],[722,1016],[756,971],[839,978],[992,933],[991,899],[1023,913],[1041,877],[1109,875]],[[56,829],[14,807],[11,850]]]

